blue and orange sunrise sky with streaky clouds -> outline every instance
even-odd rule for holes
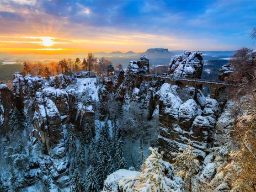
[[[0,53],[256,48],[256,0],[0,0]]]

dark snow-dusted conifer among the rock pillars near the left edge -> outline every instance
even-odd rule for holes
[[[21,129],[24,127],[23,125],[23,118],[19,110],[15,107],[11,113],[11,117],[9,119],[9,125],[11,128],[11,132],[14,133],[16,130]]]

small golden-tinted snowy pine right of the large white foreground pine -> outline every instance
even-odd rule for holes
[[[185,181],[184,188],[187,191],[192,191],[192,177],[199,171],[200,163],[197,160],[197,155],[193,153],[193,148],[188,145],[187,149],[183,153],[171,153],[174,156],[173,166],[175,167],[175,173],[177,176]],[[182,149],[180,149],[182,151]]]

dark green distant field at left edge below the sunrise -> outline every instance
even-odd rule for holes
[[[21,69],[22,64],[0,64],[0,81],[12,80],[12,74]]]

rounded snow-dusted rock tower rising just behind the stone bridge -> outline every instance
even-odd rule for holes
[[[168,66],[168,75],[176,78],[200,79],[203,71],[202,52],[185,51],[172,58]]]

